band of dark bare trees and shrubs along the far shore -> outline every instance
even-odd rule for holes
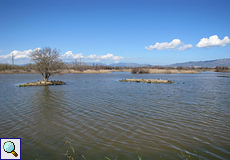
[[[83,72],[84,70],[123,70],[123,69],[132,69],[131,73],[149,73],[149,69],[166,69],[166,70],[213,70],[215,69],[216,72],[229,72],[229,67],[226,66],[216,66],[215,68],[212,67],[162,67],[162,66],[147,66],[147,67],[119,67],[119,66],[107,66],[107,65],[98,65],[97,63],[93,63],[93,65],[88,65],[85,62],[77,62],[74,61],[72,63],[60,63],[58,69],[73,69],[77,71]],[[23,70],[30,72],[31,70],[36,70],[36,65],[33,63],[29,63],[26,65],[11,65],[11,64],[0,64],[0,71],[5,70]]]

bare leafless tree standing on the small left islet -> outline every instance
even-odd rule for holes
[[[49,80],[51,75],[57,73],[57,69],[60,68],[59,53],[60,51],[56,48],[52,50],[50,47],[44,47],[36,49],[30,54],[30,59],[35,62],[36,69],[42,74],[45,82]]]

